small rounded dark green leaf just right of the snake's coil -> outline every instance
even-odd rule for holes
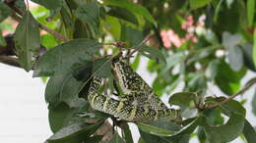
[[[169,98],[170,105],[179,105],[189,107],[191,101],[195,100],[196,94],[192,92],[178,92],[172,94]]]

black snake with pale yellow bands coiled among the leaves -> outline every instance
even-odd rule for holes
[[[97,93],[103,78],[94,76],[88,100],[93,109],[128,121],[149,122],[156,119],[180,121],[180,112],[168,109],[144,79],[126,64],[122,56],[111,61],[115,81],[124,96],[114,99]]]

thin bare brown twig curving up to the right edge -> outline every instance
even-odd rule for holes
[[[211,106],[207,106],[204,105],[202,108],[200,108],[200,110],[210,110],[210,109],[215,109],[218,108],[222,105],[224,105],[225,103],[229,102],[230,100],[232,100],[233,98],[235,98],[237,95],[243,94],[245,91],[247,91],[254,83],[256,83],[256,78],[252,78],[250,81],[248,81],[248,83],[241,89],[239,90],[237,93],[229,96],[228,98],[226,98],[224,101],[216,103],[214,105]]]

